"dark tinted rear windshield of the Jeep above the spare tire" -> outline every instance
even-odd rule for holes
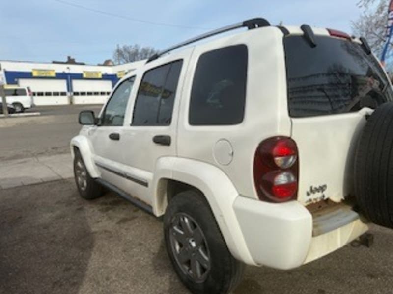
[[[345,39],[284,38],[291,117],[355,112],[392,100],[392,88],[373,55]]]

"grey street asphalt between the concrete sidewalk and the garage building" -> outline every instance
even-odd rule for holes
[[[66,105],[33,108],[39,117],[0,119],[0,160],[69,153],[69,142],[81,129],[78,114],[102,105]]]

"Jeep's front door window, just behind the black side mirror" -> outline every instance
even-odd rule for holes
[[[135,77],[123,81],[113,92],[101,118],[101,125],[123,125]],[[81,92],[81,95],[84,92]]]

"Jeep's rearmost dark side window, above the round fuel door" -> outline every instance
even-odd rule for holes
[[[199,57],[190,98],[191,125],[230,125],[243,121],[248,52],[225,47]]]

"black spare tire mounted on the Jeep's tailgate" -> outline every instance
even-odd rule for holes
[[[393,228],[393,103],[368,118],[355,155],[355,198],[372,222]]]

